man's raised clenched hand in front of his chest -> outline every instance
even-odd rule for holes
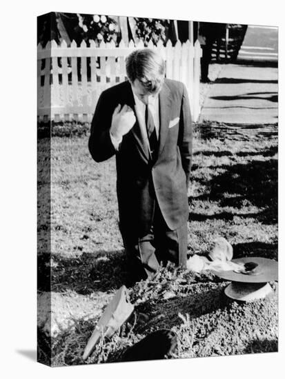
[[[119,140],[135,125],[135,114],[128,105],[118,104],[112,114],[110,133]]]

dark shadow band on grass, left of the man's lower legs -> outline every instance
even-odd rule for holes
[[[126,282],[124,250],[83,253],[75,258],[53,254],[50,259],[49,254],[41,254],[38,269],[39,291],[75,291],[85,295],[118,289]]]

